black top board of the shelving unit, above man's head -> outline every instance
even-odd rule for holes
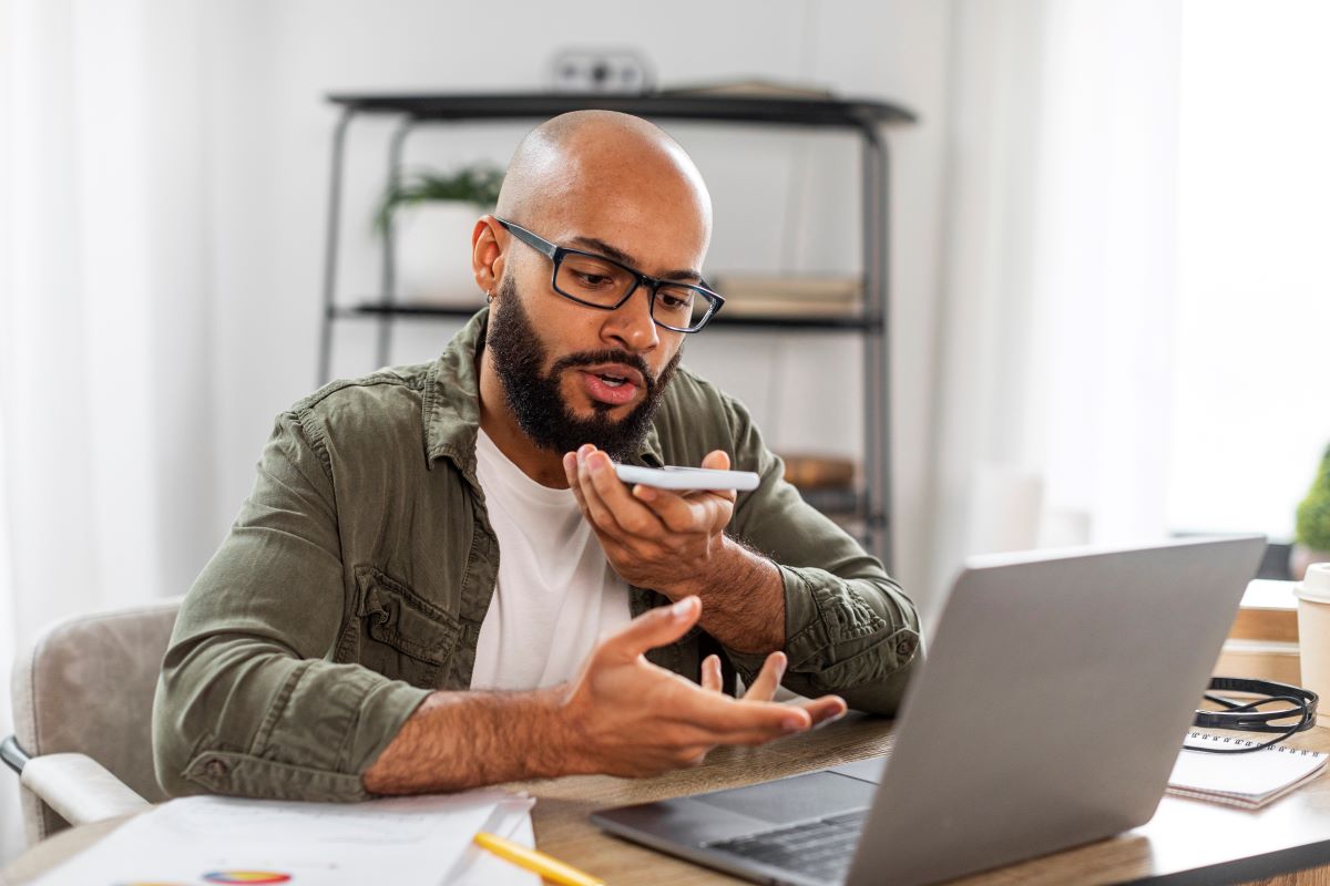
[[[883,101],[858,98],[785,98],[645,93],[332,93],[327,100],[347,112],[406,114],[418,121],[545,118],[571,110],[604,109],[656,120],[705,120],[741,124],[862,128],[912,124],[914,112]]]

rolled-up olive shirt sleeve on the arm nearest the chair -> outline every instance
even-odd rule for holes
[[[153,704],[170,794],[360,800],[427,689],[329,660],[348,606],[317,428],[278,417],[258,478],[176,623]]]

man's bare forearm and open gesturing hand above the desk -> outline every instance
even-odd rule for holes
[[[774,704],[785,656],[771,655],[742,700],[650,664],[646,650],[697,623],[697,598],[644,612],[606,636],[572,683],[531,692],[435,692],[366,770],[371,793],[466,790],[580,773],[652,776],[696,766],[721,744],[757,745],[845,713],[837,696]]]

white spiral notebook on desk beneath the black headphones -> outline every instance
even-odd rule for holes
[[[1189,732],[1186,744],[1232,748],[1252,747],[1258,743]],[[1205,753],[1184,749],[1177,754],[1173,773],[1168,777],[1168,793],[1242,809],[1260,809],[1318,777],[1326,768],[1327,760],[1330,757],[1323,753],[1285,745],[1252,753]]]

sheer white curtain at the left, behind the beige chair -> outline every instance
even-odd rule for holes
[[[70,612],[182,592],[206,558],[200,8],[0,0],[5,735],[15,648]]]

